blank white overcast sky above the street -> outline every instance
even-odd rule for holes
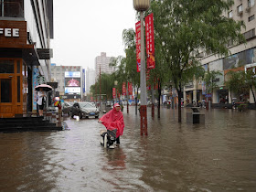
[[[51,62],[94,69],[101,52],[124,56],[123,29],[135,22],[133,0],[54,0]]]

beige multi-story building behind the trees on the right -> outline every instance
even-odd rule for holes
[[[219,58],[214,54],[200,53],[201,64],[206,70],[219,70],[222,75],[219,75],[216,79],[216,83],[219,88],[215,89],[211,95],[207,94],[204,81],[197,82],[194,80],[190,84],[187,84],[184,88],[184,100],[185,102],[201,101],[211,96],[213,103],[219,103],[221,99],[225,99],[229,103],[232,102],[232,98],[240,98],[240,95],[234,95],[225,86],[225,80],[227,80],[227,72],[233,68],[246,69],[247,67],[255,68],[256,66],[256,5],[255,0],[237,0],[234,1],[234,5],[229,8],[227,13],[223,13],[224,16],[233,18],[236,21],[243,21],[245,28],[242,28],[241,33],[246,39],[246,43],[240,45],[234,45],[230,41],[229,51],[230,56],[228,58]],[[242,100],[248,100],[253,103],[253,96],[251,91],[243,95]]]

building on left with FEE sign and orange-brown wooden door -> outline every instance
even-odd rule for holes
[[[0,0],[0,117],[37,110],[50,80],[53,1]]]

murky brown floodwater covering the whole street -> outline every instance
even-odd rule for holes
[[[0,191],[256,191],[256,112],[202,110],[205,124],[177,111],[124,109],[119,148],[104,149],[96,119],[66,119],[69,131],[0,133]],[[192,112],[192,111],[191,111]]]

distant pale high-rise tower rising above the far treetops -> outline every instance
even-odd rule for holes
[[[101,52],[101,56],[97,56],[95,58],[96,80],[98,80],[99,78],[100,68],[101,73],[111,74],[115,71],[115,68],[110,66],[111,61],[112,57],[107,57],[107,54],[105,52]]]

